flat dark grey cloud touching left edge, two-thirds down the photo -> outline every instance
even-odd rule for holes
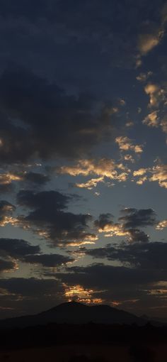
[[[7,256],[21,258],[23,256],[40,253],[40,247],[30,245],[30,243],[25,240],[0,238],[0,251]]]

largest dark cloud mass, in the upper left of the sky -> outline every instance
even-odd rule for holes
[[[88,95],[69,96],[56,84],[21,68],[2,75],[0,104],[4,163],[53,155],[77,158],[109,139],[114,128],[108,107],[97,114]]]

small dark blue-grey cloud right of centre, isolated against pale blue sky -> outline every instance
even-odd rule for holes
[[[124,216],[120,217],[125,229],[138,228],[139,226],[149,226],[156,224],[156,213],[153,209],[122,209]]]

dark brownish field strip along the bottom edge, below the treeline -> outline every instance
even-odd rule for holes
[[[167,362],[167,344],[142,346],[65,345],[1,351],[8,362]]]

